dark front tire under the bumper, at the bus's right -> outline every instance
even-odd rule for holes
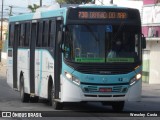
[[[112,109],[115,112],[121,112],[121,111],[123,111],[124,103],[125,103],[124,101],[113,102]]]

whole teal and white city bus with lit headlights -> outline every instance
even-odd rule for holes
[[[80,5],[11,16],[7,83],[22,102],[140,101],[145,38],[137,9]]]

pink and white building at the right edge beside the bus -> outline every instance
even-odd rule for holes
[[[142,32],[147,40],[143,54],[144,82],[160,84],[160,0],[143,0]]]

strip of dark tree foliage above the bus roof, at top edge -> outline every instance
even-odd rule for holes
[[[81,3],[89,3],[93,0],[56,0],[59,4],[81,4]]]

